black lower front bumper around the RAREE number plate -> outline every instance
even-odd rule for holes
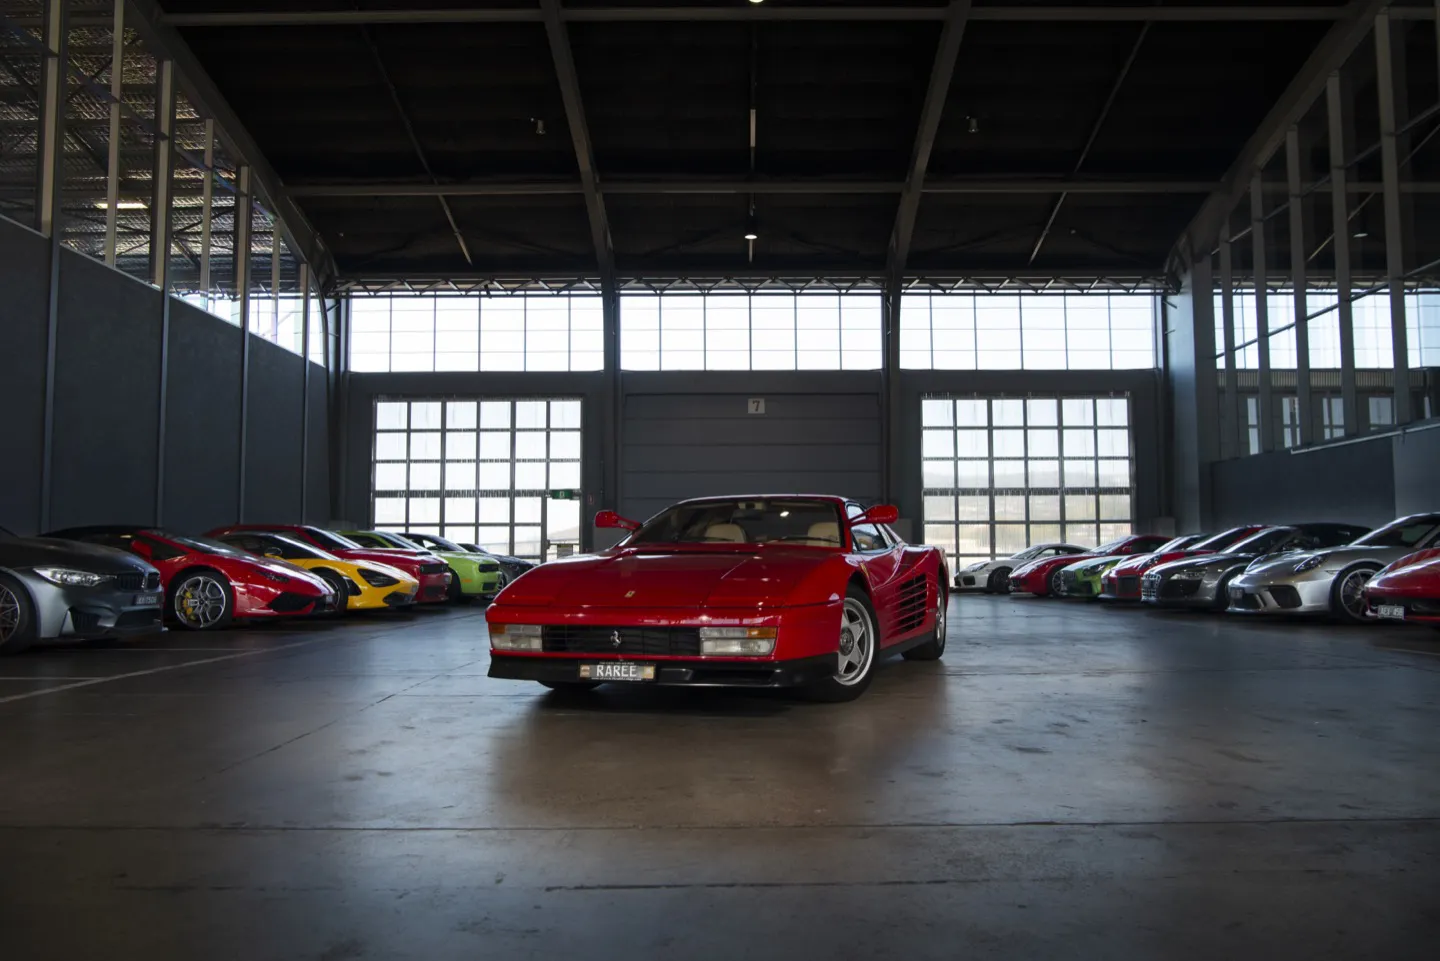
[[[622,660],[600,654],[510,654],[491,651],[490,677],[505,680],[537,680],[552,684],[580,683],[580,664]],[[710,657],[694,658],[644,658],[626,657],[655,666],[655,680],[609,681],[612,684],[634,684],[644,687],[804,687],[818,680],[835,676],[838,658],[835,654],[819,654],[798,660],[723,660]]]

